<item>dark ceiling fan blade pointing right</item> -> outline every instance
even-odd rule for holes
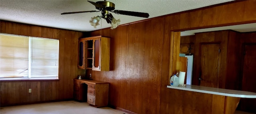
[[[136,16],[136,17],[142,17],[142,18],[148,18],[148,13],[142,13],[142,12],[131,12],[131,11],[123,11],[123,10],[114,10],[114,13],[116,14],[122,14],[122,15],[128,15],[128,16]]]

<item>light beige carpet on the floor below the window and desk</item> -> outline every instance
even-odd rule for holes
[[[87,102],[63,101],[1,107],[0,114],[126,114],[109,107],[95,108]]]

